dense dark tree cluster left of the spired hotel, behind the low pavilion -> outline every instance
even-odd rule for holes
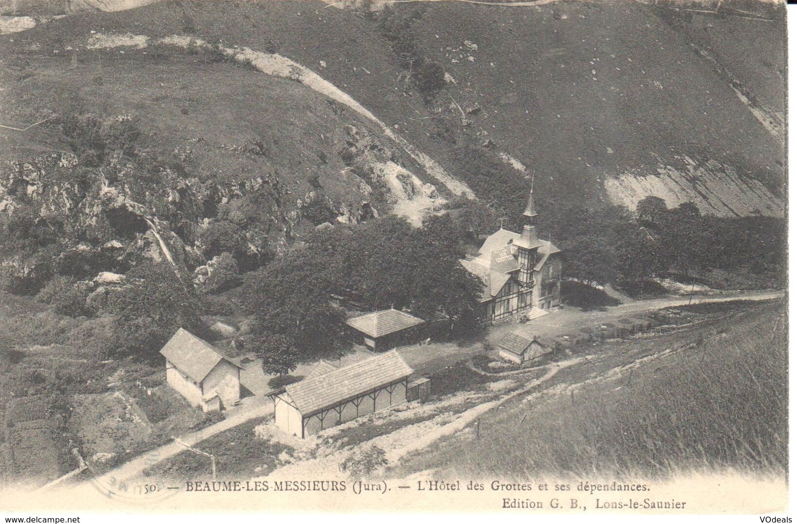
[[[410,309],[450,328],[469,325],[480,283],[459,264],[464,253],[450,217],[413,229],[387,218],[317,230],[304,246],[249,274],[245,302],[257,318],[253,332],[263,353],[334,355],[344,340],[344,297],[365,309]],[[285,361],[271,372],[289,369]],[[276,367],[274,367],[276,366]]]

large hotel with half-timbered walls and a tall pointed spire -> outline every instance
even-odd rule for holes
[[[483,284],[477,311],[481,321],[501,321],[533,307],[551,309],[559,305],[561,250],[537,238],[532,193],[523,215],[526,224],[522,233],[501,227],[485,239],[476,258],[460,261]]]

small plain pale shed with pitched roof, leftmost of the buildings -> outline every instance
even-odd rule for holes
[[[183,328],[160,354],[166,357],[166,381],[204,412],[229,407],[241,399],[241,366]]]

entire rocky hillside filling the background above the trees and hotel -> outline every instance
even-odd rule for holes
[[[709,215],[783,215],[776,9],[744,21],[630,2],[67,12],[0,41],[2,121],[17,128],[4,130],[2,158],[63,164],[10,164],[3,208],[63,213],[81,231],[123,204],[139,218],[132,230],[77,231],[62,250],[131,234],[155,245],[165,232],[194,270],[217,254],[203,243],[209,226],[269,258],[320,223],[394,212],[417,225],[455,195],[512,221],[532,174],[543,233],[555,237],[570,207],[633,208],[647,195]],[[724,50],[729,30],[756,34],[762,53]],[[67,136],[87,118],[134,132],[124,183],[108,178],[118,144],[81,158],[95,155],[94,139]],[[70,195],[61,184],[76,165],[91,187]],[[28,257],[11,264],[38,263]]]

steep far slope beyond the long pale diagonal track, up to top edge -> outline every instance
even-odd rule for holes
[[[729,187],[764,184],[764,193],[732,189],[720,196],[751,199],[744,209],[731,204],[736,212],[779,215],[771,208],[781,198],[783,142],[759,116],[783,112],[783,83],[772,72],[783,71],[785,25],[782,10],[771,8],[776,4],[764,2],[758,9],[758,2],[740,3],[722,6],[724,18],[684,11],[677,23],[671,20],[675,11],[638,2],[396,5],[393,12],[412,18],[402,30],[384,23],[384,11],[340,10],[321,2],[163,2],[124,13],[76,15],[49,26],[63,38],[112,28],[276,51],[343,90],[457,179],[467,181],[473,171],[467,156],[456,153],[465,144],[520,160],[540,175],[536,191],[545,213],[556,213],[563,203],[599,200],[607,179],[657,175],[660,164],[669,178],[673,169],[681,173],[676,186],[685,186],[694,173],[681,172],[679,159],[689,156],[722,164],[717,171],[703,170],[719,183],[733,182],[726,177],[731,170],[750,180]],[[738,18],[748,11],[773,19]],[[22,34],[52,40],[48,31]],[[412,37],[423,56],[446,70],[448,85],[433,104],[424,104],[411,88],[388,39],[397,32]],[[743,47],[748,34],[763,49],[755,57],[718,50],[727,49],[726,43]],[[698,49],[709,49],[717,62]],[[762,107],[769,113],[760,112]],[[613,187],[614,200],[629,199]],[[647,194],[635,192],[630,203]],[[696,197],[702,198],[699,192],[683,198]],[[702,207],[726,210],[713,203]]]

